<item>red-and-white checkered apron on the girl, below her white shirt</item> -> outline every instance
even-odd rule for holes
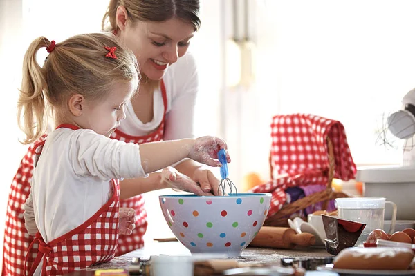
[[[113,196],[84,224],[48,244],[37,233],[29,250],[39,243],[39,253],[29,275],[33,275],[42,258],[42,275],[63,275],[108,262],[116,255],[120,188],[118,180],[112,182]]]

